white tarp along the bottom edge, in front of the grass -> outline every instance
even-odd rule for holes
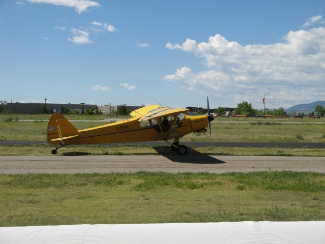
[[[0,243],[325,243],[325,221],[0,227]]]

